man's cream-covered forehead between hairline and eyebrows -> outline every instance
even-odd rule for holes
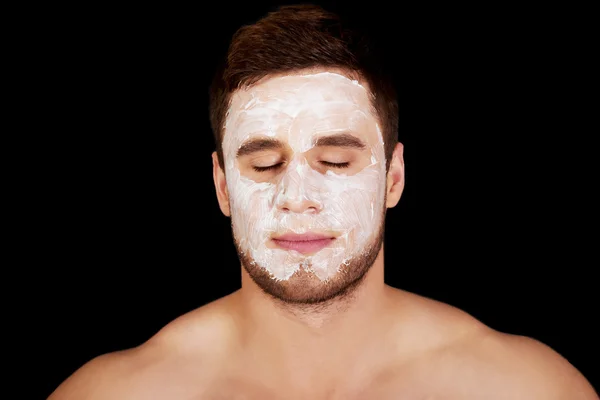
[[[315,135],[351,132],[380,140],[370,94],[359,82],[333,72],[277,76],[238,90],[227,112],[223,147],[270,136],[305,151]]]

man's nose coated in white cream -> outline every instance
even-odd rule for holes
[[[316,214],[323,208],[318,191],[307,182],[301,167],[288,171],[280,185],[276,204],[282,212]]]

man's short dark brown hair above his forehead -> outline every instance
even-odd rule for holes
[[[210,123],[221,168],[223,126],[232,94],[269,75],[312,68],[341,70],[367,83],[389,166],[398,142],[398,102],[384,64],[360,29],[320,6],[281,6],[242,26],[233,35],[210,88]]]

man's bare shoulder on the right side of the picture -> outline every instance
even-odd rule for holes
[[[419,370],[445,390],[461,382],[462,398],[503,398],[510,393],[515,399],[599,399],[567,359],[539,340],[496,331],[443,302],[403,296],[414,310],[418,325],[413,331],[424,343],[426,356],[417,362]]]

